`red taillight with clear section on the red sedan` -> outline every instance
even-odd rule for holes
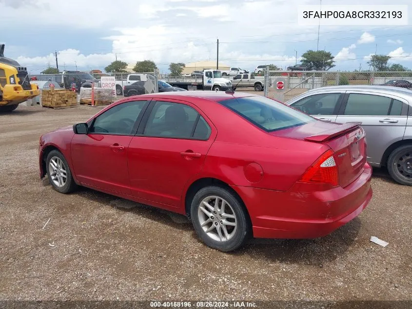
[[[339,185],[339,171],[332,150],[326,151],[300,179],[304,183]]]

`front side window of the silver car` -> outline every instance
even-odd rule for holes
[[[334,110],[341,93],[315,94],[303,98],[291,106],[309,115],[335,115]]]

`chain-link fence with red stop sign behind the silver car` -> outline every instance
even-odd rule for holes
[[[266,81],[269,79],[269,82]],[[380,85],[412,88],[412,72],[269,71],[265,96],[286,102],[310,89],[335,85]]]

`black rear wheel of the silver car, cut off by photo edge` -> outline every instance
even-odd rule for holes
[[[395,182],[412,186],[412,144],[393,150],[388,158],[387,167]]]

